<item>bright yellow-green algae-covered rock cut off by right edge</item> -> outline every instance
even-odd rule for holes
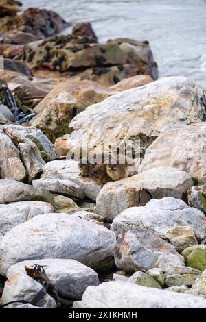
[[[181,255],[185,258],[186,265],[204,271],[206,269],[206,245],[187,247]]]

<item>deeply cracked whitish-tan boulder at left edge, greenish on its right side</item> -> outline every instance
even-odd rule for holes
[[[39,129],[21,125],[0,125],[0,178],[19,181],[35,179],[45,161],[57,158],[58,150]]]

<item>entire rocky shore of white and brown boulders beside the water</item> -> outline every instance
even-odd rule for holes
[[[2,90],[0,306],[206,308],[204,88],[158,79],[148,42],[99,43],[88,22],[62,36],[69,22],[15,0],[0,12],[17,108]],[[86,143],[93,158],[115,147],[108,164],[85,165]]]

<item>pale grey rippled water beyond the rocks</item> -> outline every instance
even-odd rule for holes
[[[72,23],[91,21],[101,41],[115,37],[149,40],[161,77],[184,75],[206,86],[206,0],[23,0],[23,3],[24,8],[55,10]]]

